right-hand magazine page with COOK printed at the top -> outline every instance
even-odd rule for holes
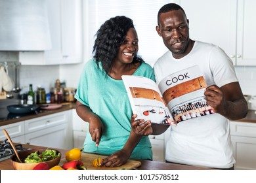
[[[163,78],[158,87],[176,124],[214,113],[206,104],[207,86],[198,65]]]

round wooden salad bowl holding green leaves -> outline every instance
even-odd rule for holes
[[[53,150],[53,148],[48,148],[48,149]],[[18,152],[18,155],[20,156],[20,159],[26,159],[33,152],[38,151],[39,154],[41,154],[45,150],[47,150],[47,148],[33,148],[33,149],[30,149],[30,150],[24,150],[22,152]],[[58,150],[56,150],[56,152],[57,152],[57,154],[60,153]],[[54,158],[54,159],[49,160],[49,161],[44,161],[44,162],[47,163],[47,165],[50,168],[52,168],[55,165],[58,165],[58,163],[60,163],[60,159],[61,159],[61,154],[57,158]],[[16,161],[16,155],[15,154],[13,154],[11,156],[11,163],[12,163],[12,167],[16,170],[32,170],[33,167],[35,167],[36,165],[39,164],[39,163],[20,163],[20,162]]]

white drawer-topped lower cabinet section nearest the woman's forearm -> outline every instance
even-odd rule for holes
[[[71,149],[72,141],[72,110],[58,112],[26,120],[26,144]]]

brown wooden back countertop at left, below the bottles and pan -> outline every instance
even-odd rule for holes
[[[65,111],[65,110],[70,110],[72,108],[75,108],[75,103],[62,103],[62,107],[61,108],[58,108],[58,109],[54,109],[54,110],[39,110],[39,111],[36,111],[32,114],[25,114],[23,116],[18,116],[16,118],[12,118],[12,119],[7,119],[7,120],[1,120],[0,121],[0,126],[1,125],[9,125],[9,124],[13,124],[13,123],[16,123],[16,122],[21,122],[21,121],[24,121],[24,120],[30,120],[30,119],[33,119],[33,118],[38,118],[38,117],[41,117],[41,116],[46,116],[46,115],[49,115],[49,114],[54,114],[56,112],[62,112],[62,111]],[[1,110],[0,110],[1,112]],[[11,113],[9,113],[11,114]]]

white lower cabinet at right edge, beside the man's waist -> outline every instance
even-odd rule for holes
[[[235,169],[256,169],[256,124],[230,122]]]

